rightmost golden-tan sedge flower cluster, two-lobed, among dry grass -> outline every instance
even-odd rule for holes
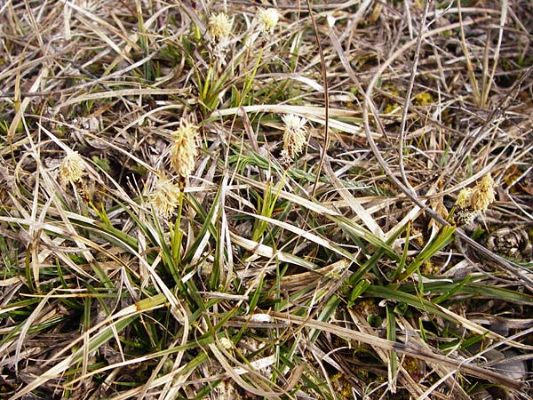
[[[457,195],[457,222],[461,225],[471,222],[478,212],[487,212],[489,204],[496,200],[494,180],[490,173],[473,188],[463,188]]]

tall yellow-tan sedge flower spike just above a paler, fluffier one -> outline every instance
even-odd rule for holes
[[[197,136],[198,127],[187,119],[181,119],[179,128],[172,133],[171,165],[184,180],[195,169]]]

